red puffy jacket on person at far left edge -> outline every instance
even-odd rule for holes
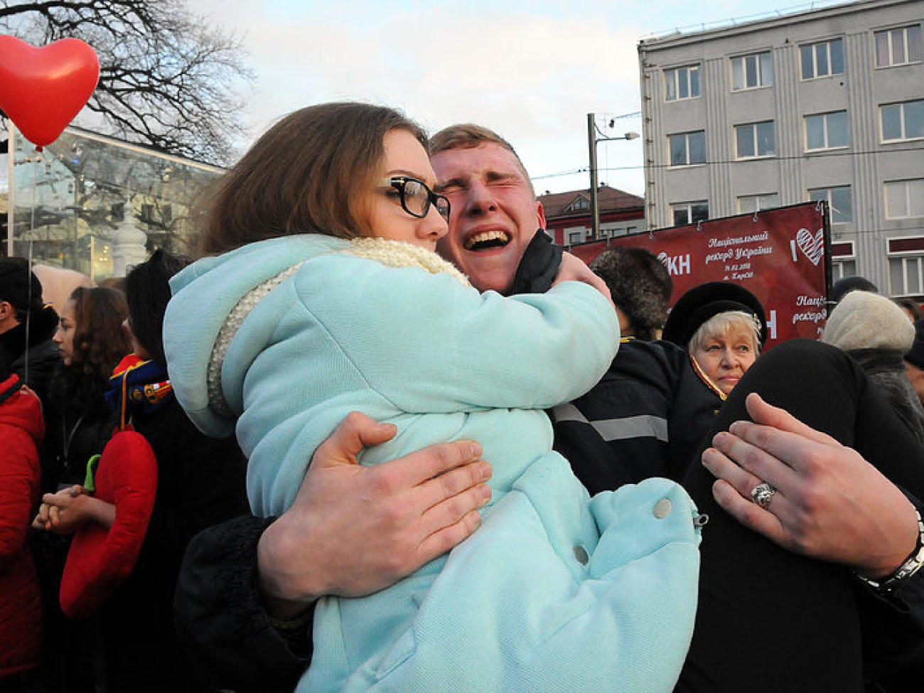
[[[38,666],[42,594],[29,550],[45,424],[39,399],[10,376],[0,383],[0,678]]]

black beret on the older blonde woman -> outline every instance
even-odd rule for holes
[[[703,322],[729,310],[755,316],[760,322],[760,344],[767,341],[767,317],[760,301],[744,286],[731,282],[700,284],[678,298],[664,323],[662,339],[686,349]]]

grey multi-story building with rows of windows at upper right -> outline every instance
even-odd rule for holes
[[[638,44],[651,228],[828,201],[833,278],[924,297],[924,2]]]

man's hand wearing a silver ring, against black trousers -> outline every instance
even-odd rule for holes
[[[785,549],[877,578],[918,542],[914,505],[857,451],[751,393],[754,419],[736,421],[702,454],[729,514]]]

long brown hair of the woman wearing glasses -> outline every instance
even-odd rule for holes
[[[363,205],[381,168],[385,134],[423,130],[392,108],[322,103],[289,114],[257,140],[207,196],[203,254],[266,238],[371,236]]]

